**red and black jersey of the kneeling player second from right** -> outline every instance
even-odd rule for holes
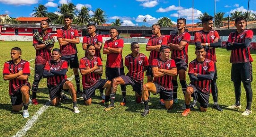
[[[161,59],[153,59],[152,68],[153,67],[171,70],[172,68],[176,67],[176,65],[173,59],[168,59],[166,62],[162,61]],[[154,78],[153,82],[158,83],[168,91],[173,91],[172,76],[170,75],[163,75],[161,77]]]

